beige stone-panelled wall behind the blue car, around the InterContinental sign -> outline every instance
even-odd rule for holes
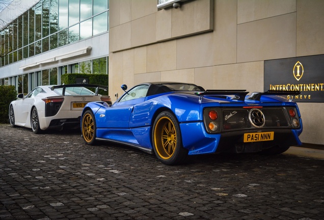
[[[110,1],[110,94],[121,84],[194,82],[263,91],[264,60],[324,54],[324,1]],[[304,143],[324,144],[323,103],[300,103]],[[315,117],[316,120],[315,120]]]

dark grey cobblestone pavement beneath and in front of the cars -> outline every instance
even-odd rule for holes
[[[182,166],[79,131],[0,125],[0,219],[324,219],[324,160],[215,154]]]

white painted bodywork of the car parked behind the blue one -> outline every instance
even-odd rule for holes
[[[102,101],[101,98],[109,98],[109,96],[96,95],[95,93],[91,92],[86,88],[83,89],[83,87],[80,87],[80,85],[73,88],[77,89],[78,91],[80,89],[83,89],[83,94],[76,94],[69,90],[72,88],[70,86],[77,85],[65,85],[67,89],[65,91],[64,96],[62,96],[62,88],[58,88],[55,91],[53,91],[51,90],[53,86],[36,87],[26,96],[23,96],[23,94],[19,94],[17,96],[18,99],[12,101],[9,106],[9,121],[11,126],[22,126],[32,128],[32,111],[34,108],[37,109],[40,131],[46,130],[51,127],[63,128],[63,126],[67,124],[79,126],[79,117],[82,114],[85,103],[91,101]],[[83,86],[88,87],[87,85]],[[46,117],[45,101],[43,99],[60,97],[64,98],[64,101],[58,113],[56,115]],[[73,103],[77,103],[76,105],[78,106],[73,107]],[[11,106],[13,107],[14,120],[12,120],[12,113],[10,112]],[[51,121],[55,119],[59,120],[59,125],[57,127],[50,126]],[[71,119],[73,120],[73,122],[68,122]],[[38,133],[38,131],[35,131],[35,129],[33,129],[33,131],[35,133]]]

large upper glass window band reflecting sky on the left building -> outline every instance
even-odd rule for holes
[[[0,31],[0,67],[109,30],[109,0],[42,0]]]

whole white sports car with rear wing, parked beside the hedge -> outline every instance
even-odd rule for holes
[[[95,92],[87,88],[95,88]],[[32,128],[34,133],[46,129],[79,128],[84,106],[91,101],[112,104],[109,96],[99,95],[99,89],[107,87],[90,84],[39,86],[9,105],[9,121],[12,127]]]

